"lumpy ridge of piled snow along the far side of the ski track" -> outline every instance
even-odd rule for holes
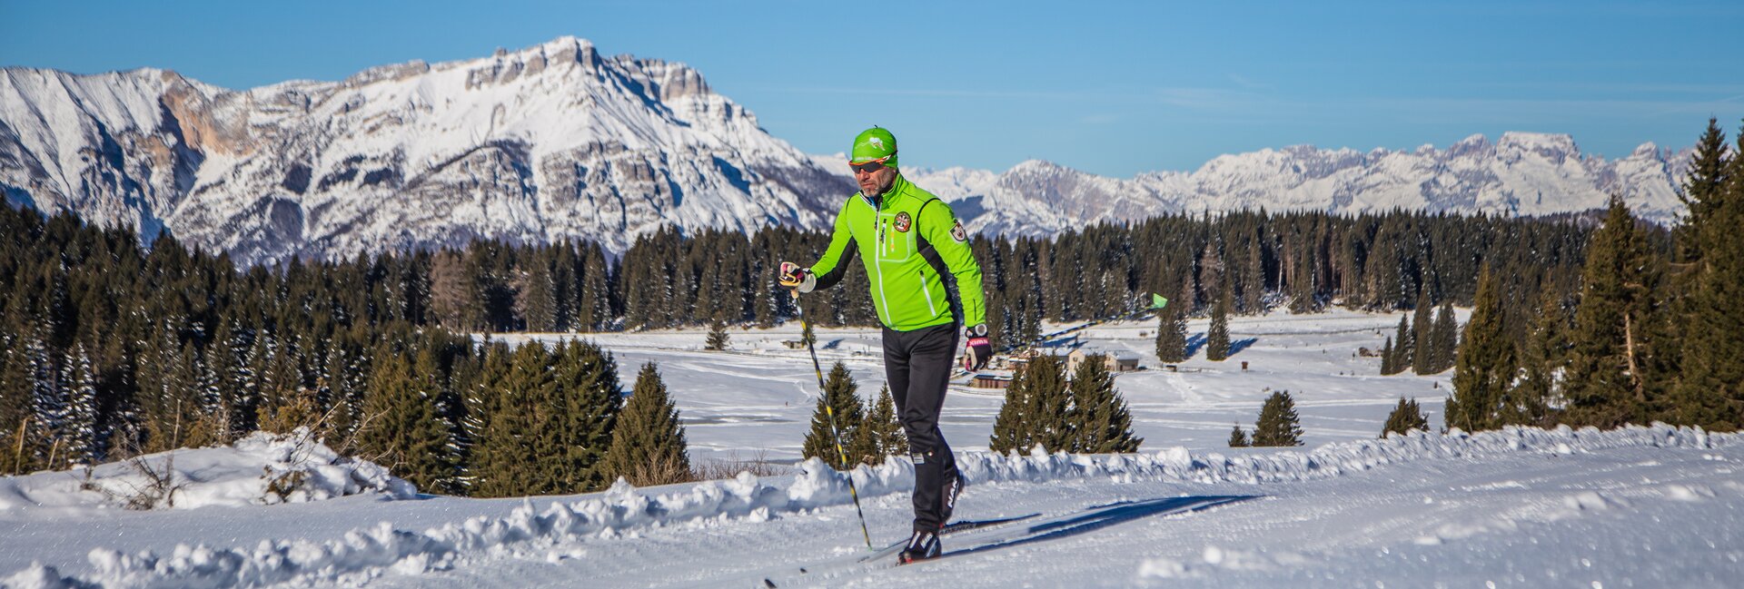
[[[1331,443],[1306,453],[1261,450],[1226,457],[1193,455],[1184,448],[1149,455],[964,453],[959,457],[959,465],[973,484],[1071,477],[1273,483],[1336,477],[1418,460],[1585,453],[1610,448],[1709,450],[1735,443],[1737,434],[1707,434],[1700,429],[1664,423],[1606,432],[1510,427],[1479,434],[1416,432],[1374,441]],[[757,523],[778,514],[849,502],[844,474],[823,467],[820,460],[802,464],[800,471],[785,488],[739,474],[732,481],[699,483],[656,497],[635,493],[619,483],[602,495],[555,504],[544,512],[535,514],[530,505],[523,505],[508,518],[480,516],[426,531],[398,530],[391,523],[382,523],[331,542],[270,540],[255,549],[178,545],[169,554],[122,554],[99,549],[89,554],[96,570],[91,575],[63,577],[51,566],[35,565],[5,579],[5,584],[9,587],[253,587],[293,580],[364,580],[387,572],[448,570],[473,558],[514,551],[516,545],[551,545],[589,537],[614,538],[670,525]],[[905,491],[912,486],[912,472],[907,460],[896,458],[881,467],[858,467],[851,476],[863,495],[875,497]],[[1151,563],[1146,568],[1151,568]]]

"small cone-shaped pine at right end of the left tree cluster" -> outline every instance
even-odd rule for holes
[[[687,451],[678,404],[666,394],[659,368],[642,364],[635,392],[612,429],[612,446],[605,451],[607,479],[624,477],[635,486],[691,481]]]

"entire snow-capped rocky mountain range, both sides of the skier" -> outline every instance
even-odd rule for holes
[[[858,131],[844,122],[842,143]],[[1693,127],[1692,127],[1693,129]],[[896,129],[902,134],[902,129]],[[853,181],[678,63],[563,37],[342,82],[228,91],[169,70],[0,70],[0,192],[92,223],[169,228],[242,263],[361,251],[589,239],[623,253],[661,225],[823,228]],[[1446,150],[1287,146],[1193,173],[1102,178],[1043,160],[996,174],[909,162],[970,230],[1052,235],[1163,213],[1421,209],[1550,214],[1622,195],[1669,223],[1690,150],[1582,155],[1566,134]]]

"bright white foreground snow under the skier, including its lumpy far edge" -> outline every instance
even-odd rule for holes
[[[959,460],[970,479],[959,519],[1039,516],[947,537],[956,554],[916,566],[853,563],[865,547],[848,476],[811,460],[797,476],[617,484],[506,514],[492,500],[371,502],[384,521],[345,531],[298,525],[354,521],[356,502],[255,507],[215,526],[152,514],[155,549],[89,538],[82,565],[72,552],[31,551],[42,538],[14,530],[7,559],[24,551],[38,563],[5,584],[1723,587],[1744,572],[1737,436],[1662,423],[1418,432],[1313,451]],[[895,458],[851,476],[877,542],[900,540],[912,465]],[[399,516],[448,521],[420,528]],[[239,525],[277,537],[213,545]],[[78,535],[66,528],[44,531]]]

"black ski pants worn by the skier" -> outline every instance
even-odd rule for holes
[[[957,324],[896,331],[884,328],[884,376],[914,458],[914,528],[938,530],[950,519],[957,460],[938,430],[945,387],[956,366]]]

